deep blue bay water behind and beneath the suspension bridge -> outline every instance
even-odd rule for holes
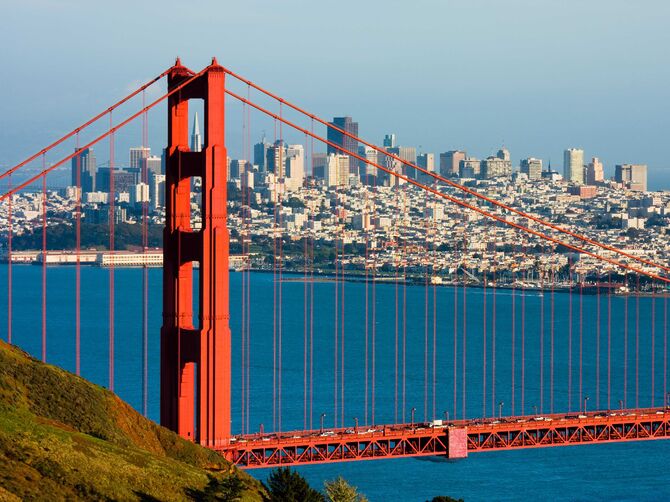
[[[36,357],[41,353],[41,270],[30,265],[15,265],[13,292],[13,342]],[[6,305],[7,267],[0,266],[0,305]],[[108,279],[104,269],[82,268],[81,309],[81,373],[85,378],[108,385]],[[74,370],[74,269],[48,269],[48,332],[47,360]],[[139,269],[115,271],[115,379],[114,389],[121,398],[138,410],[142,409],[141,394],[141,298],[142,272]],[[149,271],[149,396],[148,415],[158,418],[159,329],[161,323],[161,271]],[[368,339],[372,336],[371,297],[369,293]],[[433,293],[436,294],[436,392],[433,409],[432,346],[433,346]],[[428,290],[428,318],[425,315],[426,290],[422,286],[400,285],[397,289],[399,304],[406,295],[406,372],[402,372],[402,309],[398,317],[399,374],[396,407],[395,392],[395,336],[396,287],[378,284],[376,287],[376,399],[375,423],[391,423],[396,419],[410,420],[410,410],[416,408],[416,420],[441,418],[446,411],[453,416],[463,414],[463,312],[467,304],[465,339],[465,402],[469,417],[503,414],[532,413],[551,410],[551,294],[509,290],[495,292],[496,368],[495,396],[492,395],[492,331],[494,293],[489,289],[484,297],[481,289],[452,287]],[[282,285],[282,407],[273,419],[273,276],[251,274],[251,358],[250,358],[250,413],[249,431],[278,427],[281,415],[283,430],[303,428],[303,341],[304,341],[304,284],[285,282]],[[464,296],[465,295],[465,296]],[[484,311],[486,298],[486,311]],[[231,274],[231,317],[233,353],[240,353],[241,275]],[[335,409],[334,385],[334,319],[335,289],[332,282],[314,285],[314,377],[311,425],[318,427],[319,416],[326,413],[326,427],[353,425],[354,417],[361,424],[371,423],[371,369],[368,367],[368,406],[365,392],[365,284],[345,285],[345,409],[338,400]],[[338,300],[341,306],[341,299]],[[572,302],[572,316],[570,303]],[[596,350],[598,337],[598,302],[600,303],[600,351]],[[608,302],[611,302],[608,303]],[[579,333],[580,304],[583,312],[583,388],[579,392]],[[611,306],[610,306],[611,305]],[[514,309],[513,309],[514,306]],[[521,386],[522,309],[525,308],[525,385]],[[542,312],[544,308],[544,332]],[[630,407],[663,404],[664,383],[664,315],[667,308],[662,298],[621,297],[602,295],[584,296],[556,293],[554,297],[554,410],[573,412],[583,406],[589,397],[589,409],[617,408],[625,397]],[[3,312],[5,312],[3,307]],[[627,312],[627,333],[626,319]],[[608,330],[608,313],[611,313]],[[454,316],[456,315],[456,403],[454,405]],[[338,322],[342,312],[338,310]],[[426,322],[427,321],[427,322]],[[511,391],[512,323],[515,340],[515,391]],[[428,326],[428,394],[424,393],[425,335]],[[572,325],[572,389],[568,402],[568,338]],[[341,324],[338,337],[341,335]],[[483,343],[486,332],[487,372],[486,396],[483,392]],[[654,344],[652,351],[652,332]],[[607,388],[607,338],[610,333],[611,386]],[[0,336],[7,337],[6,319],[0,322]],[[624,338],[627,336],[628,372],[627,392],[624,396]],[[540,341],[543,338],[543,357]],[[341,344],[338,338],[338,344]],[[640,358],[635,357],[639,343]],[[369,351],[372,351],[369,344]],[[600,354],[600,386],[596,388],[597,355]],[[654,392],[652,396],[652,354],[654,365]],[[543,362],[544,382],[540,382]],[[338,397],[341,393],[341,373],[338,360]],[[635,369],[639,379],[636,382]],[[242,430],[240,399],[240,366],[233,361],[233,429]],[[405,399],[402,398],[403,380]],[[523,399],[523,409],[522,409]],[[513,403],[513,404],[512,404]],[[514,406],[512,408],[512,406]],[[309,407],[308,407],[309,410]],[[367,420],[366,420],[367,419]],[[307,418],[310,426],[310,418]],[[670,454],[670,443],[651,441],[642,443],[589,445],[580,447],[547,448],[499,453],[472,454],[467,460],[397,459],[365,461],[300,468],[310,482],[319,487],[326,479],[342,475],[357,485],[370,500],[423,501],[439,494],[463,497],[466,500],[663,500],[670,497],[666,481],[665,460]],[[263,479],[267,471],[253,470]]]

